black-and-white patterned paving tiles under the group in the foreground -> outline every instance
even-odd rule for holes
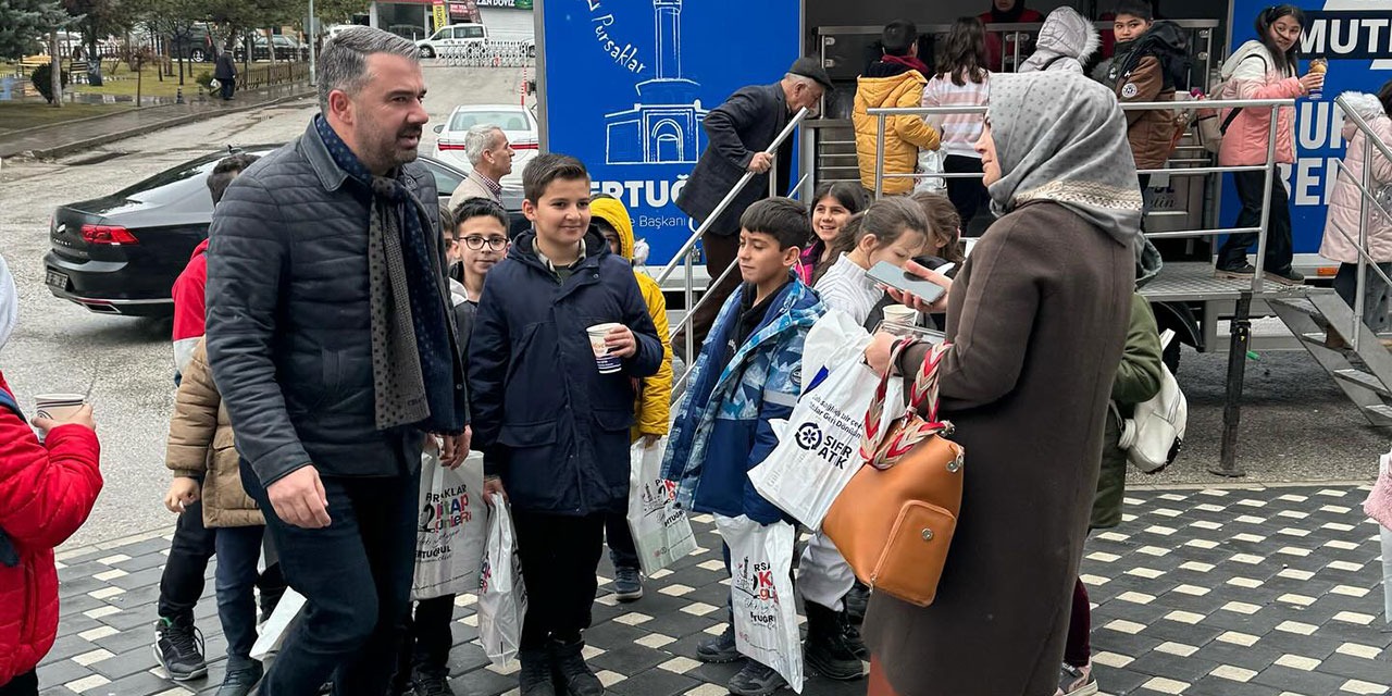
[[[1083,561],[1097,606],[1093,651],[1102,693],[1389,693],[1392,628],[1382,615],[1378,530],[1361,512],[1367,490],[1132,491],[1123,525],[1094,535]],[[636,603],[614,600],[604,561],[586,640],[610,693],[725,693],[738,665],[692,658],[700,640],[720,632],[728,592],[714,525],[704,515],[695,525],[703,548],[649,579]],[[39,668],[45,696],[216,690],[226,643],[212,579],[196,612],[216,660],[207,678],[177,685],[156,667],[152,622],[167,548],[156,536],[60,554],[63,618]],[[473,597],[459,597],[450,660],[455,693],[515,693],[516,663],[489,665],[476,626]],[[810,677],[803,693],[859,696],[864,682]]]

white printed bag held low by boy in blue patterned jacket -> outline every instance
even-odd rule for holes
[[[715,529],[729,546],[735,647],[771,667],[792,690],[802,693],[802,635],[789,576],[792,525],[760,525],[745,515],[715,515]]]

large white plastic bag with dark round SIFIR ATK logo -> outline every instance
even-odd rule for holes
[[[844,362],[803,394],[778,445],[749,470],[754,490],[803,525],[821,529],[831,501],[863,464],[860,436],[878,386],[869,366]]]

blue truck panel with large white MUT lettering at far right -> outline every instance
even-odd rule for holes
[[[1233,0],[1232,47],[1256,39],[1257,13],[1270,0]],[[1296,253],[1317,253],[1324,237],[1335,161],[1342,160],[1343,114],[1334,99],[1343,92],[1375,95],[1392,79],[1392,0],[1295,0],[1306,13],[1300,36],[1300,74],[1308,60],[1329,60],[1321,99],[1296,102],[1296,161],[1282,164],[1279,175],[1290,193],[1290,224]],[[1231,53],[1231,52],[1229,52]],[[1219,224],[1231,227],[1242,210],[1232,177],[1224,177]]]

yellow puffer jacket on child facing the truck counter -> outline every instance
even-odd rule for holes
[[[887,78],[866,78],[856,81],[855,110],[851,114],[856,128],[856,159],[860,163],[860,185],[874,191],[874,143],[878,118],[867,113],[880,107],[923,106],[923,88],[928,81],[922,72],[910,70]],[[935,150],[941,138],[938,131],[924,122],[922,116],[891,116],[884,128],[884,173],[912,174],[919,164],[919,149]],[[908,193],[913,191],[912,178],[887,178],[885,193]]]

